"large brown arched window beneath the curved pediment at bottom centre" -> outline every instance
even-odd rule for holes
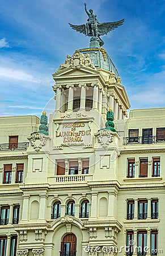
[[[67,234],[61,242],[60,256],[76,256],[76,236]]]

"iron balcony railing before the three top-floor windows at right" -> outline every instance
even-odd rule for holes
[[[139,143],[139,144],[153,144],[158,142],[165,142],[165,136],[142,136],[142,137],[125,137],[123,138],[123,144],[132,144],[132,143]]]

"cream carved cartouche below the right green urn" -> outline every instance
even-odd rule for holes
[[[113,142],[113,135],[110,130],[100,130],[97,139],[101,147],[107,148],[109,144]]]

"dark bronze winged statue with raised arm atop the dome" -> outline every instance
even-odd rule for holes
[[[86,14],[88,15],[87,23],[82,25],[70,24],[73,30],[83,33],[86,36],[91,36],[90,42],[99,42],[99,46],[103,46],[104,42],[101,40],[100,36],[107,35],[108,32],[114,30],[115,28],[121,26],[124,19],[118,20],[117,22],[104,22],[99,23],[96,15],[92,9],[87,11],[86,3],[84,3]]]

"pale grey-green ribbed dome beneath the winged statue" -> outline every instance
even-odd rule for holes
[[[110,59],[108,53],[103,48],[84,48],[79,49],[79,52],[82,52],[84,55],[88,53],[92,63],[94,63],[96,68],[102,68],[107,71],[115,73],[115,76],[118,77],[119,73],[112,60]]]

